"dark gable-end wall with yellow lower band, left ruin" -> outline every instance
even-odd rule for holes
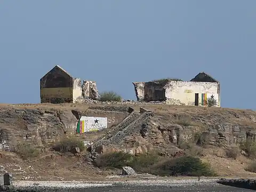
[[[73,78],[59,67],[54,67],[40,79],[40,97],[43,102],[72,102]]]

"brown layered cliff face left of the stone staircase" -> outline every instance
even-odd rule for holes
[[[64,134],[75,134],[81,116],[108,117],[108,127],[112,127],[129,115],[128,109],[108,111],[89,106],[5,106],[0,109],[0,147],[8,150],[19,141],[33,141],[46,146]]]

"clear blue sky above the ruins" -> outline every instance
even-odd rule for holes
[[[0,1],[0,102],[38,103],[55,65],[135,99],[133,81],[200,71],[256,109],[255,0]]]

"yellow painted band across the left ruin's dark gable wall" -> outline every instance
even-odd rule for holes
[[[72,87],[43,88],[40,90],[41,98],[72,98]]]

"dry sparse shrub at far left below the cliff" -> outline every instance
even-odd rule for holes
[[[18,142],[17,145],[12,146],[11,151],[24,160],[38,157],[40,154],[40,149],[36,145],[27,142]]]

